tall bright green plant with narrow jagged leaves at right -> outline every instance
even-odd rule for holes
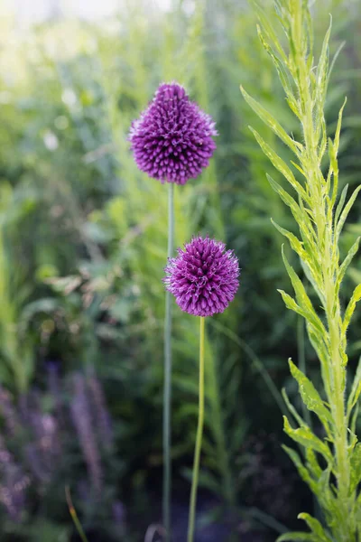
[[[340,262],[339,238],[348,212],[361,189],[358,186],[347,200],[347,187],[338,199],[338,148],[344,106],[338,117],[336,134],[328,139],[325,121],[325,101],[332,64],[329,65],[329,36],[326,33],[317,66],[314,65],[313,30],[307,0],[276,0],[274,6],[278,22],[286,35],[287,50],[278,32],[264,11],[255,4],[260,26],[258,34],[265,51],[270,55],[286,94],[286,101],[301,123],[301,141],[297,141],[281,124],[242,89],[243,96],[255,113],[287,145],[296,156],[292,166],[286,164],[273,151],[262,135],[253,130],[255,139],[273,166],[282,173],[292,187],[295,197],[274,182],[268,175],[273,190],[292,211],[300,229],[300,237],[274,226],[287,238],[301,259],[304,275],[318,297],[312,303],[301,277],[289,264],[282,248],[282,258],[291,278],[295,298],[280,290],[286,307],[300,314],[306,321],[310,342],[316,350],[324,386],[321,397],[309,378],[289,361],[292,377],[299,385],[305,406],[319,419],[323,435],[316,435],[310,425],[297,413],[285,396],[292,416],[293,427],[284,416],[284,431],[304,449],[304,458],[284,446],[292,458],[301,478],[319,500],[327,527],[310,514],[300,514],[310,533],[295,532],[282,535],[283,540],[331,540],[353,542],[361,535],[361,507],[358,484],[361,480],[360,444],[357,443],[357,400],[361,392],[361,373],[350,391],[346,387],[347,328],[361,298],[361,285],[357,285],[345,310],[340,302],[340,287],[347,267],[356,255],[356,239],[347,257]],[[326,156],[328,167],[324,167]],[[299,180],[298,178],[302,179]]]

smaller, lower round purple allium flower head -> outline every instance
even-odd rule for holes
[[[211,238],[192,238],[170,258],[163,278],[182,311],[195,316],[223,313],[238,289],[239,266],[232,250]]]

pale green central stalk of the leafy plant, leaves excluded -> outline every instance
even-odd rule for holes
[[[299,35],[300,33],[300,35]],[[301,4],[298,3],[297,16],[295,17],[295,35],[298,37],[296,48],[301,43]],[[301,51],[299,51],[301,57]],[[303,102],[303,116],[301,123],[304,135],[304,154],[307,156],[308,171],[304,168],[310,186],[310,193],[313,202],[313,216],[317,224],[319,234],[319,252],[322,255],[321,261],[324,262],[323,270],[323,292],[326,300],[326,318],[329,328],[329,360],[331,369],[331,397],[329,403],[335,427],[335,455],[337,464],[337,480],[338,480],[338,506],[342,510],[341,517],[344,519],[342,524],[338,525],[338,533],[340,539],[354,540],[352,530],[352,522],[349,521],[350,510],[349,503],[349,487],[350,473],[349,460],[347,456],[347,418],[345,413],[345,382],[346,374],[343,368],[343,362],[340,355],[343,341],[341,332],[338,326],[340,317],[339,296],[336,287],[335,276],[338,272],[338,265],[335,265],[333,255],[336,254],[337,240],[335,240],[332,220],[328,220],[328,209],[325,199],[322,196],[318,145],[315,142],[315,127],[313,124],[313,104],[310,96],[309,74],[305,65],[305,60],[299,65],[299,88],[301,95],[306,99]],[[336,246],[335,246],[336,245]]]

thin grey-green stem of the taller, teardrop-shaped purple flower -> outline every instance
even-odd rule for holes
[[[174,184],[168,185],[168,257],[174,244]],[[171,293],[165,294],[163,388],[163,524],[165,541],[171,540]]]

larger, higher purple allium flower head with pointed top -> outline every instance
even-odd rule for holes
[[[218,135],[212,118],[178,83],[163,83],[134,120],[129,141],[140,170],[162,182],[185,184],[208,166]]]

